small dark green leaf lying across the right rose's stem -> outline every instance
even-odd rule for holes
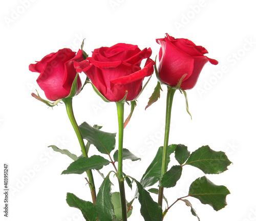
[[[180,165],[173,166],[168,170],[159,182],[159,186],[162,187],[174,187],[177,181],[180,179],[182,173],[182,167]]]

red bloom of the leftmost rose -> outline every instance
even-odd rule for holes
[[[72,83],[76,77],[74,61],[82,61],[82,51],[77,54],[69,48],[63,48],[51,53],[35,64],[29,65],[29,70],[40,73],[36,82],[45,92],[47,99],[56,101],[70,94]],[[81,90],[81,80],[77,78],[77,93]]]

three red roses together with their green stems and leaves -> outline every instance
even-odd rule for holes
[[[214,65],[218,62],[204,55],[208,53],[204,47],[197,46],[188,39],[175,39],[166,34],[165,38],[156,39],[156,41],[161,46],[158,55],[159,65],[156,64],[157,59],[153,61],[150,58],[151,48],[140,50],[137,45],[118,43],[111,47],[97,48],[89,57],[83,51],[82,42],[81,50],[79,49],[77,53],[69,48],[63,48],[29,66],[31,71],[40,74],[37,83],[50,101],[42,99],[39,94],[32,93],[32,96],[50,107],[60,103],[66,105],[82,154],[76,156],[68,150],[60,150],[55,145],[50,147],[74,160],[62,171],[62,174],[86,174],[92,201],[89,199],[84,201],[73,193],[67,193],[67,203],[71,207],[78,208],[87,221],[125,221],[130,217],[133,202],[136,199],[141,205],[140,212],[146,221],[163,220],[169,209],[179,201],[189,206],[191,213],[199,219],[194,207],[187,200],[189,197],[198,199],[202,204],[210,205],[216,211],[227,205],[226,196],[230,193],[229,190],[225,186],[215,185],[206,176],[191,183],[187,195],[170,205],[167,201],[168,196],[163,194],[164,188],[176,186],[185,165],[197,167],[204,174],[220,174],[227,170],[231,162],[225,153],[211,150],[208,145],[190,153],[187,146],[183,144],[169,144],[170,116],[175,92],[178,90],[184,94],[186,109],[189,113],[186,90],[195,86],[203,66],[208,61]],[[144,59],[145,65],[141,67]],[[123,173],[123,160],[140,159],[130,150],[123,148],[124,128],[132,117],[138,97],[154,72],[158,82],[146,108],[159,99],[163,85],[166,86],[165,135],[163,146],[158,148],[155,158],[141,175],[141,179],[136,180],[133,175]],[[83,73],[86,74],[87,79],[82,84],[79,75]],[[143,85],[146,77],[150,78]],[[118,116],[118,149],[116,151],[114,151],[115,133],[104,132],[101,130],[102,127],[91,126],[87,122],[78,126],[76,122],[72,100],[87,84],[91,84],[94,91],[105,102],[116,103]],[[131,113],[126,120],[124,120],[125,104],[131,105]],[[96,148],[99,154],[90,156],[88,154],[90,148]],[[171,154],[174,154],[177,162],[176,165],[168,168]],[[100,169],[109,164],[113,165],[113,170],[108,174],[102,174]],[[93,173],[100,173],[102,183],[95,185]],[[114,174],[113,179],[118,181],[119,192],[111,191],[111,185],[113,185],[110,179],[111,174]],[[134,196],[129,201],[125,197],[126,184],[131,189],[136,187]],[[157,185],[157,188],[150,188],[154,185]],[[152,199],[151,194],[158,194],[158,202]],[[165,200],[164,204],[163,200]]]

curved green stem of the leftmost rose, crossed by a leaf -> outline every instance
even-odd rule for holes
[[[74,116],[73,107],[72,107],[72,97],[64,99],[63,102],[66,105],[66,109],[67,109],[67,113],[68,113],[70,122],[71,122],[71,124],[72,124],[72,126],[73,126],[73,128],[76,132],[76,136],[77,136],[79,144],[81,146],[82,155],[83,155],[83,157],[88,157],[88,154],[87,154],[87,151],[86,151],[86,145],[84,145],[81,131],[80,131],[78,125],[77,125],[77,122],[76,122],[76,119],[75,119],[75,116]],[[93,204],[95,204],[95,202],[96,202],[96,191],[95,191],[95,185],[94,185],[93,174],[92,174],[91,169],[87,170],[87,176],[89,178],[89,186],[90,186],[90,189],[91,189]]]

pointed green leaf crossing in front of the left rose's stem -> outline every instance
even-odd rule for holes
[[[71,163],[69,167],[62,172],[62,174],[82,174],[88,169],[101,169],[109,163],[110,161],[97,155],[83,157]]]

